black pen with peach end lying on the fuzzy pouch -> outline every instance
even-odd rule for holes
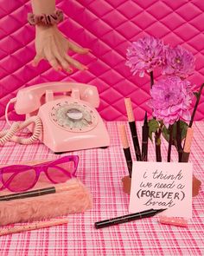
[[[55,187],[45,187],[41,189],[30,190],[30,191],[16,193],[16,194],[4,194],[0,196],[0,201],[24,199],[28,197],[41,196],[44,194],[54,194],[54,193],[70,190],[73,187],[75,186],[67,186],[66,183],[56,184]]]

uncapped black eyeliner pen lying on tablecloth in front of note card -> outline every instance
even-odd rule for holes
[[[131,214],[127,214],[124,216],[116,217],[116,218],[113,218],[110,220],[102,220],[102,221],[95,222],[95,227],[102,228],[105,226],[113,226],[113,225],[117,225],[120,223],[129,222],[131,220],[150,218],[150,217],[153,217],[154,215],[156,215],[157,213],[162,213],[165,210],[166,209],[158,209],[158,210],[150,209],[150,210],[145,210],[140,213],[131,213]]]

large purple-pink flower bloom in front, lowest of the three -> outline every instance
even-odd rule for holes
[[[150,89],[153,116],[168,127],[180,118],[189,121],[189,107],[192,102],[193,92],[190,82],[181,80],[177,76],[156,82]]]

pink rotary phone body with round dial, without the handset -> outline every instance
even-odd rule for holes
[[[65,101],[65,100],[64,100]],[[92,108],[91,106],[86,107],[87,102],[80,101],[79,103],[74,103],[74,99],[67,98],[69,103],[67,105],[63,105],[64,103],[61,100],[55,100],[53,102],[48,102],[41,106],[38,116],[41,118],[43,132],[41,134],[41,142],[43,142],[48,148],[50,148],[54,153],[61,152],[70,152],[81,149],[89,149],[89,148],[106,148],[110,145],[110,138],[105,127],[105,123],[100,117],[99,113]],[[73,109],[75,108],[85,108],[83,110],[83,115],[88,116],[87,113],[90,111],[90,116],[92,115],[91,124],[86,123],[85,128],[72,128],[72,126],[61,126],[61,116],[57,116],[57,110],[52,109],[66,109],[63,110],[68,114],[74,114],[68,112],[68,107],[72,104],[75,104]],[[57,107],[56,107],[57,106]],[[62,111],[61,110],[61,111]],[[81,110],[82,111],[82,110]],[[75,113],[76,114],[76,113]],[[81,114],[82,113],[77,113]],[[55,117],[53,117],[53,115]],[[82,115],[82,116],[83,116]],[[73,116],[72,118],[78,118],[78,116]],[[65,117],[63,117],[65,118]],[[88,120],[88,117],[86,117]],[[91,117],[90,117],[91,118]],[[62,121],[70,121],[70,117],[63,119]],[[79,123],[76,121],[76,123]],[[73,122],[74,124],[74,122]],[[71,125],[71,124],[70,124]]]

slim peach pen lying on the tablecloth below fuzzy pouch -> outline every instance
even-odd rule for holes
[[[35,230],[43,227],[57,226],[62,224],[67,224],[68,219],[55,219],[55,220],[43,220],[39,222],[31,222],[21,226],[5,226],[0,228],[0,236],[10,234],[10,233],[20,233],[30,230]]]

